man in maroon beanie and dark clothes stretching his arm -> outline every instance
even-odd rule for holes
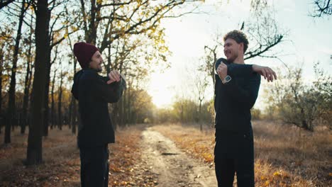
[[[74,75],[72,94],[79,101],[77,145],[81,159],[82,186],[108,186],[109,143],[114,143],[114,126],[109,118],[108,103],[116,103],[126,88],[126,81],[111,71],[101,77],[103,58],[94,45],[74,44],[74,55],[82,69]]]

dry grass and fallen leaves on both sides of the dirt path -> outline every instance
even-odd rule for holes
[[[332,186],[332,134],[319,129],[301,131],[289,125],[253,122],[256,186]],[[214,129],[200,132],[193,126],[157,125],[187,154],[213,165]],[[110,186],[153,186],[153,177],[142,171],[142,126],[118,130],[110,145]],[[12,132],[12,143],[0,145],[0,186],[79,186],[79,150],[70,130],[50,130],[43,140],[44,164],[24,166],[27,135]],[[4,140],[4,134],[0,135]]]

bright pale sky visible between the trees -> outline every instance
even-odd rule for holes
[[[275,19],[280,28],[287,30],[288,37],[282,45],[274,48],[282,52],[280,60],[291,66],[299,66],[303,62],[304,80],[314,79],[314,62],[320,62],[327,74],[332,74],[332,16],[330,18],[312,18],[312,0],[278,0],[272,2]],[[180,18],[164,20],[165,39],[172,55],[167,63],[169,69],[163,73],[151,74],[148,93],[158,108],[169,108],[176,96],[185,95],[194,98],[192,77],[204,56],[204,45],[214,43],[216,34],[225,35],[228,31],[240,28],[240,23],[250,18],[250,1],[206,0],[199,6],[205,13],[187,14]],[[250,42],[250,41],[249,41]],[[218,57],[224,57],[223,47],[219,47]],[[282,62],[275,59],[254,58],[246,64],[259,64],[282,69]],[[270,84],[262,79],[256,108],[264,108],[263,90]],[[210,85],[206,91],[206,99],[213,98],[214,90]]]

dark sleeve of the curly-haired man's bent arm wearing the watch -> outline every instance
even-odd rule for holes
[[[250,74],[243,77],[245,84],[240,84],[236,78],[224,84],[227,96],[236,100],[245,109],[253,108],[260,89],[260,75]]]

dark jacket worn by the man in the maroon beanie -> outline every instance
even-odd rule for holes
[[[98,147],[115,142],[108,103],[120,99],[126,82],[121,79],[106,84],[108,80],[109,77],[101,77],[93,69],[82,69],[74,75],[72,94],[79,101],[79,147]]]

